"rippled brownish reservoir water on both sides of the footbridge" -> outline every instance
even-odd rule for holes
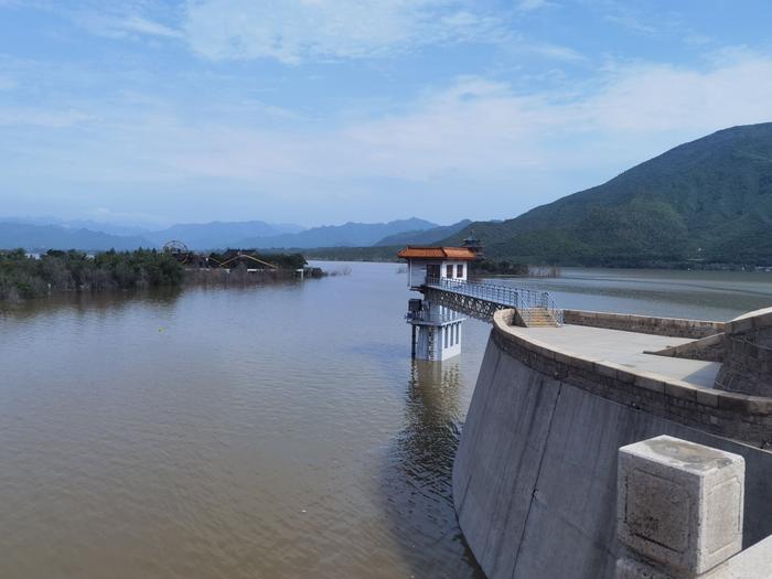
[[[343,265],[323,264],[326,269]],[[0,577],[482,577],[450,495],[490,326],[410,361],[396,264],[0,309]],[[725,320],[772,274],[497,280]]]

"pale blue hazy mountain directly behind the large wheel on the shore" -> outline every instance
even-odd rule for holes
[[[173,225],[168,229],[148,233],[146,236],[159,247],[175,239],[184,243],[191,249],[218,249],[243,247],[242,239],[246,237],[269,237],[297,234],[302,230],[300,225],[285,223],[212,222]]]

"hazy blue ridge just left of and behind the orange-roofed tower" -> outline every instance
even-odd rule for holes
[[[270,237],[247,237],[239,247],[358,247],[373,245],[384,237],[405,232],[419,232],[438,227],[436,223],[411,217],[388,223],[346,223],[313,227],[297,234]]]

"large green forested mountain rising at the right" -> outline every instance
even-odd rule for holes
[[[772,265],[772,122],[682,144],[611,181],[473,230],[494,258],[556,265]]]

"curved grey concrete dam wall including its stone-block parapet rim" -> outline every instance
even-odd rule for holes
[[[464,537],[490,579],[612,578],[616,457],[660,435],[746,460],[744,547],[772,534],[772,399],[561,352],[498,312],[453,465]]]

